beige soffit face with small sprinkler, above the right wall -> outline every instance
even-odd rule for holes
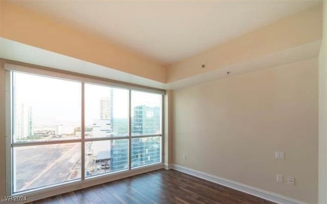
[[[321,39],[321,4],[172,64],[167,82],[258,59]],[[205,69],[201,64],[205,63]]]

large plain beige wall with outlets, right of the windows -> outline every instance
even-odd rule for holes
[[[173,163],[317,202],[317,58],[177,89],[172,104]]]

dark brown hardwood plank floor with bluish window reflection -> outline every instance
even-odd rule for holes
[[[157,170],[33,203],[273,203],[174,170]]]

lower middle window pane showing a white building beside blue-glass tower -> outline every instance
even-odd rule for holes
[[[127,169],[127,140],[85,142],[85,177]]]

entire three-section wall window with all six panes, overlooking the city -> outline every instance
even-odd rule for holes
[[[12,193],[161,162],[161,94],[15,71],[7,77]]]

